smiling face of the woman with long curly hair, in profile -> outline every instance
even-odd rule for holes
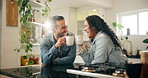
[[[95,27],[90,27],[87,21],[84,22],[84,31],[87,33],[88,38],[95,38],[97,35]]]

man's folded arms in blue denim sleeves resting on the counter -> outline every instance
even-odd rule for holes
[[[48,44],[48,45],[47,45]],[[57,57],[58,49],[47,40],[42,40],[40,44],[41,59],[44,65],[48,64],[72,64],[76,57],[76,45],[70,47],[67,56]]]

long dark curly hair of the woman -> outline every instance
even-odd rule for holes
[[[103,33],[107,34],[111,38],[115,47],[118,46],[121,48],[121,45],[119,44],[119,39],[102,18],[100,18],[97,15],[92,15],[88,16],[86,18],[86,21],[88,22],[88,25],[90,27],[95,27],[98,30],[98,32],[102,31]]]

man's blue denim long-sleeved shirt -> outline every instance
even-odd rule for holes
[[[41,60],[44,65],[49,64],[73,64],[76,57],[76,44],[73,46],[63,45],[55,48],[53,33],[47,34],[40,43]]]

